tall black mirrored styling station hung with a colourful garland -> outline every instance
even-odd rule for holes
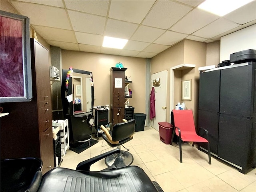
[[[68,119],[70,149],[89,142],[92,134],[94,86],[92,72],[62,70],[61,86],[64,119]]]

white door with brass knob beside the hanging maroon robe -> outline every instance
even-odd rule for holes
[[[153,80],[158,78],[160,79],[160,86],[154,86],[156,98],[156,117],[150,122],[150,126],[157,131],[159,131],[158,122],[166,121],[167,70],[151,75],[151,90],[153,87]]]

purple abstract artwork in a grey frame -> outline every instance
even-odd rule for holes
[[[29,18],[0,11],[0,102],[31,101]]]

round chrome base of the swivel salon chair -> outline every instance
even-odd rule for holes
[[[115,153],[105,158],[105,164],[108,167],[126,167],[130,166],[133,162],[133,156],[127,151],[121,151],[121,153]]]

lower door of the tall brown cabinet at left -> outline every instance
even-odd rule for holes
[[[40,133],[40,152],[43,161],[42,172],[44,174],[54,168],[52,126]]]

